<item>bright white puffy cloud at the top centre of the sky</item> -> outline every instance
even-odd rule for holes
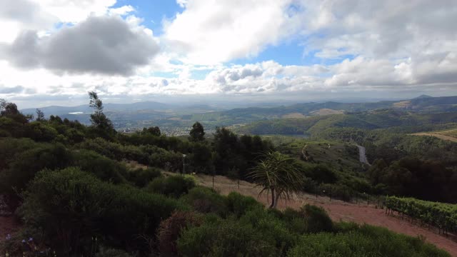
[[[291,0],[179,0],[184,11],[164,22],[170,51],[192,64],[256,56],[293,33]]]

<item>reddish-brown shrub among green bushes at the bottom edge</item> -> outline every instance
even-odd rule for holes
[[[179,238],[181,231],[188,226],[197,226],[201,224],[195,213],[176,211],[169,218],[162,221],[159,226],[159,251],[160,256],[178,256],[176,240]]]

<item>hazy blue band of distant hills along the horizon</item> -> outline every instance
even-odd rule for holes
[[[254,121],[272,119],[304,119],[312,116],[332,114],[351,114],[380,109],[394,109],[417,114],[434,114],[457,112],[457,96],[418,96],[403,101],[376,101],[368,103],[325,103],[292,104],[290,106],[248,107],[222,110],[215,106],[194,104],[178,106],[154,101],[134,104],[104,104],[105,114],[113,121],[116,129],[136,130],[145,126],[160,126],[169,129],[169,133],[181,133],[195,121],[200,121],[208,129],[216,126],[233,126],[249,124]],[[40,108],[45,116],[60,116],[62,119],[79,120],[89,124],[92,109],[89,105],[81,106],[47,106]],[[23,109],[24,114],[34,114],[36,109]],[[177,132],[176,132],[177,131]],[[184,132],[183,132],[184,133]]]

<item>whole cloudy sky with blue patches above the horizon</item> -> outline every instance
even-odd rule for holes
[[[457,95],[455,0],[0,0],[0,98],[306,102]]]

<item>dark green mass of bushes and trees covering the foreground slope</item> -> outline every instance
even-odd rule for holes
[[[225,128],[205,138],[201,124],[189,138],[164,136],[158,127],[124,135],[113,129],[98,96],[89,96],[91,126],[46,120],[39,111],[32,121],[0,101],[0,194],[24,225],[0,254],[448,256],[418,238],[333,223],[317,206],[279,211],[239,193],[222,196],[196,185],[189,173],[255,181],[273,188],[275,200],[317,186],[341,195],[371,191],[368,178],[383,176],[300,160],[260,136]],[[275,179],[267,183],[270,175]]]

